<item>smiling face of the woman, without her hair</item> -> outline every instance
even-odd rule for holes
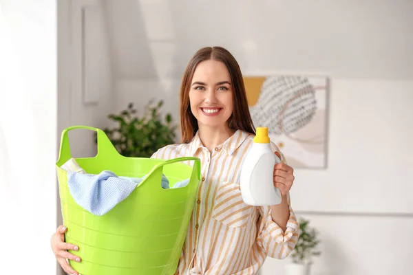
[[[207,60],[198,64],[191,81],[189,102],[198,126],[227,126],[233,113],[231,76],[224,63]]]

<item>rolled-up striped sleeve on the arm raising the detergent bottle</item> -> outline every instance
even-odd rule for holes
[[[293,251],[299,237],[299,225],[295,217],[293,208],[290,206],[290,196],[288,195],[288,206],[290,217],[287,228],[284,232],[282,228],[273,221],[270,206],[260,207],[260,228],[258,231],[257,244],[264,250],[266,255],[275,259],[285,259]]]

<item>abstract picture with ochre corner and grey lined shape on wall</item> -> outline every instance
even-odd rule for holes
[[[320,76],[244,76],[255,126],[293,168],[326,168],[327,83]]]

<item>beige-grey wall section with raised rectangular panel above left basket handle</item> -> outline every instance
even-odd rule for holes
[[[100,129],[108,125],[107,115],[113,108],[112,66],[107,39],[107,23],[102,1],[59,0],[58,8],[58,127],[85,125]],[[96,155],[93,132],[76,130],[69,133],[74,157]],[[57,222],[63,224],[59,190]],[[50,231],[50,230],[49,230]],[[58,267],[58,274],[64,274]]]

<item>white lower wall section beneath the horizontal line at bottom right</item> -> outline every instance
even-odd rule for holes
[[[313,275],[412,274],[412,217],[305,214],[321,232]],[[262,275],[285,274],[283,261],[268,258]]]

